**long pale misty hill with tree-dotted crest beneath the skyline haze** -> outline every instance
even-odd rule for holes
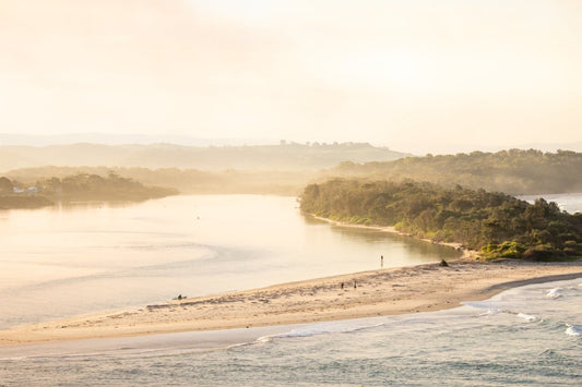
[[[299,170],[342,161],[388,161],[408,154],[367,143],[258,146],[102,145],[0,146],[0,172],[41,166],[195,168],[200,170]]]

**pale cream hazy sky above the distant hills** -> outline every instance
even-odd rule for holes
[[[0,52],[4,133],[582,141],[579,0],[0,0]]]

